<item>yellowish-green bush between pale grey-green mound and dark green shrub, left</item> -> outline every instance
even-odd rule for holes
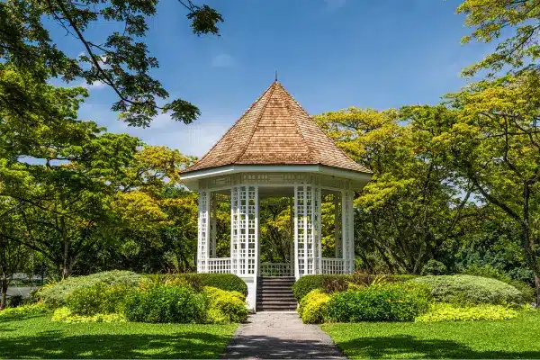
[[[76,315],[120,313],[127,295],[133,291],[135,288],[126,285],[97,283],[76,289],[67,296],[66,305]]]

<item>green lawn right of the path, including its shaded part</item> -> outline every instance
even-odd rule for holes
[[[352,359],[540,359],[540,311],[513,320],[323,324]]]

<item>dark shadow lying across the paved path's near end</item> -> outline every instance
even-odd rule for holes
[[[242,335],[233,338],[221,360],[229,359],[346,359],[332,343]]]

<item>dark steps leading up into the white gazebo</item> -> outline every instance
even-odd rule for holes
[[[295,311],[294,277],[257,278],[257,311]]]

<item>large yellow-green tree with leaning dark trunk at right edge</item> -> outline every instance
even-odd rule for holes
[[[439,140],[474,190],[518,225],[540,304],[540,74],[483,80],[448,98],[460,112]]]

